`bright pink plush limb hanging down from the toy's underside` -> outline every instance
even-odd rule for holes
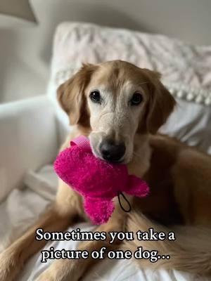
[[[114,210],[112,200],[84,198],[84,209],[94,224],[106,223]]]

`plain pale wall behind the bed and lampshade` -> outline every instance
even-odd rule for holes
[[[63,20],[96,22],[162,33],[191,44],[211,44],[209,0],[30,2],[39,25],[0,17],[0,102],[45,93],[53,31]]]

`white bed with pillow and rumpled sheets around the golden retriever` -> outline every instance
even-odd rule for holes
[[[178,106],[160,131],[211,154],[211,46],[192,46],[159,34],[63,22],[54,36],[47,94],[0,107],[0,251],[33,223],[56,194],[52,162],[71,129],[56,101],[57,87],[82,63],[113,59],[161,72]],[[43,147],[44,152],[40,150]],[[89,223],[72,227],[94,229]],[[75,249],[77,243],[53,242],[46,249],[50,246]],[[38,253],[17,281],[35,280],[52,262],[41,263],[40,259]],[[143,270],[132,261],[104,260],[85,280],[208,279],[177,270]]]

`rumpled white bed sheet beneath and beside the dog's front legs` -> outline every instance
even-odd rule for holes
[[[53,192],[56,193],[56,178],[53,175],[53,168],[46,166],[39,174],[29,173],[25,182],[27,188],[23,190],[13,190],[6,201],[0,205],[0,251],[10,244],[11,240],[18,237],[34,220],[44,211],[45,207],[51,202]],[[34,191],[34,187],[42,183],[42,193]],[[35,189],[37,190],[37,189]],[[47,191],[48,190],[48,191]],[[49,195],[48,195],[49,192]],[[81,228],[81,230],[92,230],[94,226],[88,223],[81,223],[77,226],[68,228]],[[45,249],[54,247],[55,249],[76,249],[78,242],[59,241],[49,242]],[[34,281],[42,273],[52,260],[41,263],[41,254],[33,256],[21,273],[17,281]],[[94,267],[84,281],[208,281],[205,277],[181,273],[177,270],[146,270],[136,266],[132,260],[103,260]]]

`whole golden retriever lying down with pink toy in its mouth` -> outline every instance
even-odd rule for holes
[[[140,266],[211,273],[211,157],[177,140],[156,134],[174,110],[174,98],[160,82],[160,74],[114,60],[84,65],[58,89],[58,101],[70,117],[70,139],[89,136],[96,157],[127,164],[129,174],[145,179],[151,188],[145,198],[129,197],[132,212],[116,204],[108,223],[96,231],[174,231],[176,240],[133,240],[110,244],[86,241],[80,250],[137,247],[170,255],[156,263],[140,259]],[[64,231],[80,218],[87,220],[82,198],[60,181],[56,200],[37,223],[0,255],[0,281],[17,280],[21,268],[46,244],[35,239],[44,232]],[[179,227],[180,226],[180,227]],[[53,261],[37,281],[77,281],[99,260]]]

